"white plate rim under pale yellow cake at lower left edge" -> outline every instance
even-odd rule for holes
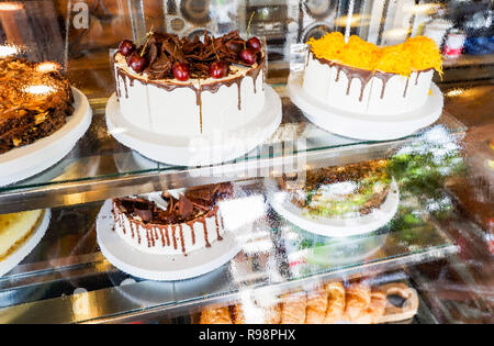
[[[49,220],[52,217],[52,211],[49,209],[45,210],[45,214],[43,215],[43,220],[41,221],[37,228],[33,232],[33,234],[27,238],[27,241],[22,244],[15,252],[10,254],[4,260],[0,261],[0,277],[4,274],[9,272],[16,265],[19,265],[25,256],[31,254],[31,252],[40,244],[41,239],[48,230]]]

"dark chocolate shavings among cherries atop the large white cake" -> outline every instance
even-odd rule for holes
[[[137,47],[137,52],[141,53],[144,49],[144,56],[149,63],[144,72],[150,80],[173,79],[172,68],[177,62],[189,65],[192,78],[209,78],[210,66],[217,59],[249,67],[250,65],[239,57],[244,46],[245,41],[237,31],[216,38],[205,33],[203,42],[198,36],[189,40],[188,37],[179,38],[175,34],[156,32],[148,37],[147,44],[143,43]]]

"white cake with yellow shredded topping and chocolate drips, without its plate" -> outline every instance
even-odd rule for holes
[[[424,36],[379,47],[338,33],[311,38],[304,91],[323,104],[348,112],[389,115],[423,107],[434,71],[442,74],[436,43]]]

